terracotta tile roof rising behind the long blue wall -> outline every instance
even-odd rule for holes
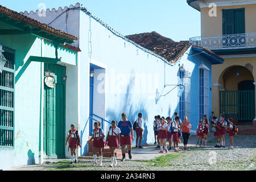
[[[155,31],[128,35],[126,38],[164,57],[164,59],[168,60],[170,63],[176,63],[188,48],[191,47],[189,41],[175,42]]]

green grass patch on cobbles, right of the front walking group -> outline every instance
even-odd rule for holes
[[[179,158],[180,154],[167,154],[152,160],[146,160],[147,166],[166,167],[172,166],[173,160]]]

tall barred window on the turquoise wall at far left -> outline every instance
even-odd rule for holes
[[[0,73],[0,148],[14,148],[15,54],[3,51],[7,62]]]

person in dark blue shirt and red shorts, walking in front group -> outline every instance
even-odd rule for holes
[[[123,121],[120,121],[117,125],[121,130],[120,134],[120,145],[122,147],[122,162],[125,161],[125,147],[127,146],[129,159],[131,159],[131,139],[134,140],[133,137],[133,125],[130,121],[127,121],[127,116],[125,113],[122,113]]]

